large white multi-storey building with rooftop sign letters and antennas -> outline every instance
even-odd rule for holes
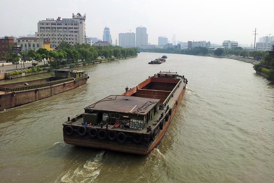
[[[80,13],[75,15],[72,13],[72,18],[58,17],[46,18],[37,23],[36,38],[48,38],[52,48],[57,47],[62,41],[70,45],[76,43],[82,44],[86,38],[86,14],[82,16]]]

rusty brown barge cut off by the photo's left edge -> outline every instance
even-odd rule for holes
[[[0,111],[62,93],[85,84],[84,70],[54,70],[51,77],[0,85]]]

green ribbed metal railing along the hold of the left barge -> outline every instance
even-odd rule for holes
[[[16,86],[16,87],[10,87],[10,88],[1,87],[0,90],[5,91],[5,92],[31,90],[31,89],[43,88],[43,87],[47,87],[47,86],[61,84],[61,83],[65,83],[65,82],[73,81],[73,80],[74,80],[74,78],[65,78],[65,79],[60,79],[60,80],[48,81],[48,82],[44,82],[44,83]]]

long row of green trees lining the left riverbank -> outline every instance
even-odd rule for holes
[[[26,58],[32,62],[33,66],[38,66],[39,63],[43,61],[44,65],[47,62],[50,66],[55,66],[76,63],[79,59],[83,62],[88,62],[96,60],[98,56],[108,59],[111,57],[119,58],[137,55],[137,48],[122,48],[120,46],[91,46],[89,44],[79,43],[72,46],[64,41],[61,42],[56,49],[57,51],[39,48],[37,51],[30,50],[28,52],[19,52],[19,54],[7,53],[6,55],[2,55],[2,57],[5,57],[8,62],[14,62],[16,64],[18,64],[19,61],[23,62],[25,69],[24,63],[27,61]]]

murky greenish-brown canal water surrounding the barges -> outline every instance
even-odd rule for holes
[[[162,55],[81,67],[90,76],[85,85],[0,112],[0,182],[273,182],[274,86],[233,59],[168,54],[148,64]],[[184,75],[188,89],[147,156],[63,142],[67,117],[160,70]]]

